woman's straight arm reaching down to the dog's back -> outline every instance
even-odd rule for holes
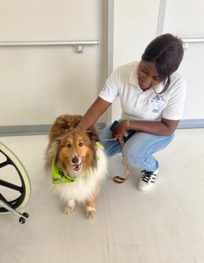
[[[88,109],[84,117],[81,119],[77,128],[79,130],[86,130],[93,126],[98,118],[109,108],[111,104],[111,102],[97,97],[92,106]]]

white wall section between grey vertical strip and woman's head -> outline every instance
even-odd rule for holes
[[[114,69],[139,61],[146,45],[156,37],[160,0],[114,1]],[[113,102],[112,121],[121,117],[119,98]]]

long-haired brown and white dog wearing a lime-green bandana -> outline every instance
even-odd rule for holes
[[[95,126],[89,130],[75,128],[81,115],[61,115],[49,130],[45,151],[45,171],[53,176],[54,192],[71,214],[75,203],[86,204],[86,217],[95,217],[95,198],[107,175],[107,157],[98,143]],[[71,130],[71,131],[70,131]]]

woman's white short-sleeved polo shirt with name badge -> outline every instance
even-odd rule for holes
[[[161,121],[161,118],[180,120],[184,108],[186,81],[179,72],[170,77],[168,89],[158,95],[164,86],[159,84],[143,91],[137,78],[139,62],[116,68],[108,77],[99,97],[113,102],[118,96],[122,108],[122,120]]]

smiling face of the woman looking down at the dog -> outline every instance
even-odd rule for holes
[[[147,90],[161,83],[161,78],[157,72],[155,62],[141,60],[137,70],[137,77],[139,86],[142,90]]]

